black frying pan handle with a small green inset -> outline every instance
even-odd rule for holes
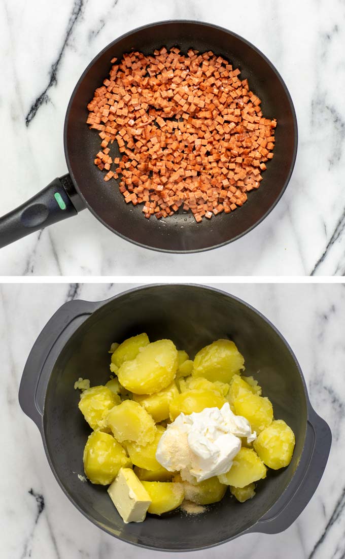
[[[69,175],[54,178],[30,200],[0,217],[0,248],[34,231],[72,217],[81,209],[83,202]]]

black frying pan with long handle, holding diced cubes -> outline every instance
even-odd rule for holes
[[[167,219],[144,218],[142,205],[127,205],[114,180],[106,183],[93,164],[100,146],[96,130],[86,125],[87,104],[94,89],[108,75],[113,56],[130,50],[153,53],[163,45],[190,47],[230,60],[242,70],[242,79],[262,100],[267,118],[276,118],[274,158],[267,165],[261,187],[249,193],[248,202],[230,214],[197,224],[190,213]],[[70,98],[64,128],[64,146],[69,174],[55,178],[28,202],[0,219],[0,247],[77,214],[87,207],[108,229],[141,247],[165,252],[197,252],[220,247],[251,231],[276,205],[294,168],[297,122],[285,83],[271,62],[256,47],[221,27],[195,21],[165,21],[139,27],[116,39],[88,65]],[[114,153],[120,155],[113,144]],[[113,153],[113,152],[111,152]]]

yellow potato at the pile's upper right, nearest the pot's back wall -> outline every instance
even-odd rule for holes
[[[234,342],[217,340],[196,354],[192,374],[211,382],[230,382],[231,377],[243,368],[244,358]]]

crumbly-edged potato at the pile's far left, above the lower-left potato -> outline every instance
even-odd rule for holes
[[[107,387],[93,386],[82,392],[78,408],[91,429],[97,429],[108,411],[120,402],[120,397]]]

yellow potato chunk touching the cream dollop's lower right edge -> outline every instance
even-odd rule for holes
[[[245,487],[266,477],[267,468],[251,448],[241,448],[227,473],[218,476],[221,484]]]

